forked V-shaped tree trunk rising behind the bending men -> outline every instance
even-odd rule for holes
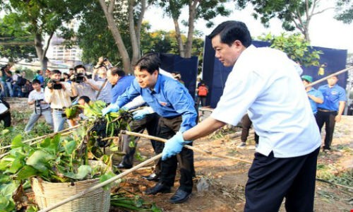
[[[140,30],[143,16],[148,8],[148,1],[109,0],[107,4],[105,0],[100,0],[100,6],[102,6],[104,15],[107,18],[109,30],[112,31],[114,41],[119,49],[124,70],[127,72],[132,72],[133,64],[136,64],[136,61],[140,58]],[[126,49],[121,36],[121,29],[119,29],[119,25],[126,22],[124,17],[127,17],[128,19],[128,32],[130,35],[130,43],[132,48],[131,57],[128,54],[128,50]]]

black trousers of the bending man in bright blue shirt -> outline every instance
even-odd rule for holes
[[[180,129],[181,116],[167,119],[160,118],[158,124],[157,136],[163,139],[170,139]],[[189,145],[192,145],[191,143]],[[189,148],[182,148],[181,152],[167,160],[162,160],[162,172],[160,182],[167,186],[174,186],[175,175],[177,174],[177,166],[179,163],[180,171],[180,187],[185,192],[191,192],[193,189],[193,175],[195,170],[193,167],[193,151]]]

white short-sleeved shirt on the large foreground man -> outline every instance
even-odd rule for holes
[[[229,73],[211,116],[236,125],[248,112],[260,136],[256,151],[276,158],[311,153],[321,136],[301,82],[298,65],[268,47],[246,48]]]

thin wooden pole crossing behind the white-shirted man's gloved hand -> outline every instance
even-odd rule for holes
[[[121,134],[126,134],[126,135],[129,135],[129,136],[143,137],[145,139],[151,139],[151,140],[155,140],[155,141],[162,141],[164,143],[167,142],[167,139],[162,139],[162,138],[159,138],[159,137],[156,137],[156,136],[149,136],[149,135],[145,135],[145,134],[139,134],[139,133],[136,133],[136,132],[133,132],[133,131],[122,130]],[[241,159],[241,158],[234,158],[234,157],[227,156],[227,155],[218,155],[218,154],[212,153],[210,151],[203,151],[202,149],[196,148],[194,146],[185,145],[184,147],[185,148],[189,148],[189,149],[191,149],[193,151],[196,151],[198,153],[202,153],[204,155],[210,155],[210,156],[217,157],[217,158],[226,158],[226,159],[230,159],[230,160],[237,160],[237,161],[242,162],[242,163],[250,163],[250,164],[252,163],[250,160],[244,160],[244,159]]]

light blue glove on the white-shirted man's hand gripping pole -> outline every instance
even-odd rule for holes
[[[181,131],[178,131],[172,139],[169,139],[165,144],[162,151],[162,160],[166,160],[167,158],[172,157],[173,155],[177,155],[177,153],[181,152],[181,149],[184,145],[191,143],[191,141],[184,141],[183,134]]]

